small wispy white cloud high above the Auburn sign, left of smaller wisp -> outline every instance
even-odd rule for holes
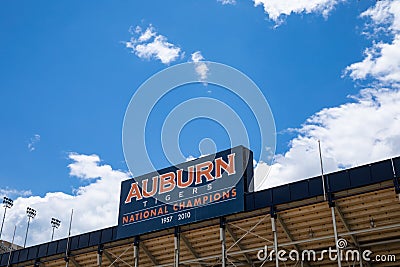
[[[158,34],[152,25],[149,25],[144,32],[139,26],[130,32],[133,37],[125,42],[125,46],[132,49],[139,58],[155,58],[164,64],[169,64],[178,59],[181,54],[181,49],[168,42],[165,36]]]

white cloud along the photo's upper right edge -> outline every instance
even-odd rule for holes
[[[391,41],[374,39],[372,47],[365,49],[364,59],[348,66],[345,73],[354,80],[373,78],[385,85],[400,83],[400,1],[379,1],[361,14],[369,18],[372,37],[377,33],[389,35]]]

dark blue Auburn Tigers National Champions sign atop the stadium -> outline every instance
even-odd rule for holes
[[[253,154],[243,146],[123,181],[118,238],[244,210]]]

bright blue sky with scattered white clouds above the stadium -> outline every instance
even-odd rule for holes
[[[328,172],[400,154],[400,1],[3,1],[0,32],[0,197],[14,200],[2,238],[16,225],[17,244],[27,206],[37,210],[28,246],[50,240],[51,217],[62,221],[55,238],[66,237],[71,209],[72,234],[117,224],[130,178],[125,112],[145,81],[178,64],[195,64],[202,82],[171,91],[138,125],[156,168],[170,165],[163,122],[189,99],[237,112],[257,190],[318,175],[318,140]],[[251,79],[275,129],[257,128],[254,106],[208,84],[207,61]],[[226,149],[233,135],[230,121],[178,126],[183,160]],[[272,130],[268,161],[259,134]]]

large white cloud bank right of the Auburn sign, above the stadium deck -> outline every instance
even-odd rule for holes
[[[256,189],[320,174],[318,140],[327,172],[398,156],[400,90],[365,89],[355,102],[325,108],[310,117],[284,155],[256,167]],[[258,186],[258,187],[257,187]]]

